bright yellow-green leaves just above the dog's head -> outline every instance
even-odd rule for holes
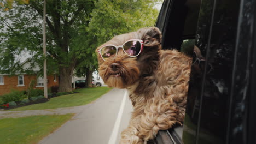
[[[158,1],[98,1],[89,24],[91,37],[96,36],[98,46],[115,35],[153,26],[158,15],[153,8],[155,2]]]

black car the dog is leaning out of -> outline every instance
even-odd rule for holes
[[[193,57],[183,126],[150,143],[256,143],[256,1],[166,0],[162,48]]]

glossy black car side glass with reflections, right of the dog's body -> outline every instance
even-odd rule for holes
[[[225,143],[238,8],[234,1],[202,1],[183,140]]]

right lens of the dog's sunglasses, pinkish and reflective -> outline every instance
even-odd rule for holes
[[[141,43],[137,40],[127,41],[123,47],[129,56],[137,56],[141,51]]]

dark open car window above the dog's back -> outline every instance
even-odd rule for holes
[[[180,51],[183,40],[195,39],[200,2],[200,0],[176,0],[163,3],[156,22],[156,27],[162,31],[162,49]],[[189,55],[192,55],[192,51]]]

